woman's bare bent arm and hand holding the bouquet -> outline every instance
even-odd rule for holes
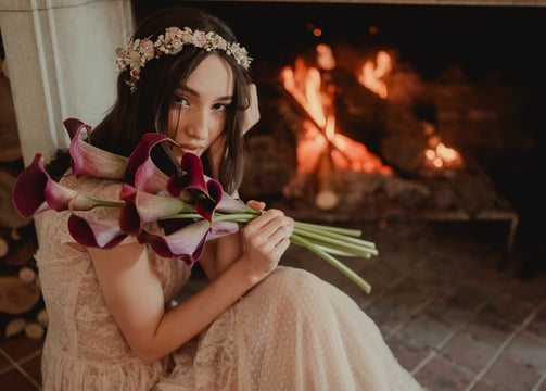
[[[237,258],[172,310],[165,307],[161,281],[144,245],[89,249],[89,253],[106,305],[127,342],[142,360],[154,361],[198,335],[270,274],[290,244],[292,229],[293,219],[282,212],[264,212],[230,236],[240,238],[242,252],[232,254]]]

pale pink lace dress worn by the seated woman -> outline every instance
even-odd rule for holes
[[[78,181],[87,194],[117,199],[119,184]],[[62,184],[76,186],[73,176]],[[115,218],[112,210],[92,213]],[[46,212],[38,219],[37,261],[50,317],[42,353],[45,391],[421,390],[356,302],[291,267],[279,267],[170,357],[143,363],[107,312],[87,253],[67,245],[73,239],[66,217]],[[169,303],[190,268],[150,256]]]

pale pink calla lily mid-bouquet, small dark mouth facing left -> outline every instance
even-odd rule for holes
[[[119,213],[124,232],[138,236],[145,223],[170,217],[178,213],[195,212],[192,204],[170,195],[151,194],[124,184],[119,198],[125,201]]]

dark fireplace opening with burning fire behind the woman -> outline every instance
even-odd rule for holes
[[[135,1],[137,16],[172,2]],[[330,222],[501,220],[509,244],[518,218],[544,210],[537,195],[528,202],[528,190],[537,192],[522,178],[541,175],[546,8],[179,2],[225,18],[255,58],[262,121],[249,135],[245,197]],[[316,67],[320,48],[333,52],[334,70]],[[390,68],[378,76],[384,59]],[[359,151],[355,159],[287,90],[283,72],[302,63],[315,66],[325,89],[333,85],[334,131]],[[376,73],[376,85],[358,81],[366,72]],[[302,159],[313,131],[321,147]],[[372,160],[356,165],[371,169],[335,164],[365,153]],[[333,199],[317,201],[325,190]]]

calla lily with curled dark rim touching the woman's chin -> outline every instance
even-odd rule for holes
[[[151,193],[165,190],[168,177],[157,168],[150,156],[152,149],[163,141],[176,144],[175,140],[165,135],[148,133],[142,136],[127,161],[127,182],[135,184],[137,189]]]

